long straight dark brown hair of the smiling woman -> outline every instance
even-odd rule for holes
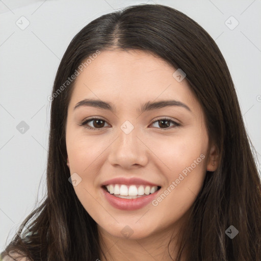
[[[208,136],[217,145],[219,166],[206,173],[176,260],[186,246],[188,260],[260,261],[260,177],[228,67],[198,23],[163,5],[137,5],[102,15],[72,39],[53,87],[47,195],[22,223],[30,233],[15,235],[2,256],[15,251],[34,261],[100,258],[96,222],[68,182],[65,123],[74,81],[64,83],[97,50],[116,47],[149,51],[181,68],[204,112]],[[225,232],[231,225],[239,231],[233,239]]]

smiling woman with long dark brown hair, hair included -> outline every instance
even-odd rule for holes
[[[260,260],[252,144],[195,21],[162,5],[95,19],[49,98],[47,197],[4,260]]]

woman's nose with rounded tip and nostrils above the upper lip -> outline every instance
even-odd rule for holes
[[[118,137],[110,146],[108,161],[113,166],[121,166],[124,169],[133,169],[145,166],[148,163],[148,148],[142,138],[136,132],[124,133],[121,129]]]

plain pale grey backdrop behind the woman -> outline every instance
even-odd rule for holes
[[[38,201],[41,200],[46,189],[50,111],[47,97],[69,42],[100,15],[140,3],[163,4],[187,14],[216,41],[229,67],[248,135],[261,161],[260,0],[2,0],[1,251],[6,240],[13,237],[20,223],[33,210],[37,196]],[[19,131],[19,124],[26,126],[24,133]],[[258,167],[260,169],[260,165]]]

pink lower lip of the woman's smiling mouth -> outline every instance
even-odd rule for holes
[[[105,189],[101,188],[102,194],[105,196],[105,198],[108,200],[108,202],[118,208],[119,210],[138,210],[139,208],[142,208],[149,204],[158,194],[158,191],[142,196],[139,198],[133,198],[133,199],[125,199],[125,198],[118,198],[113,196],[113,194],[110,194]]]

